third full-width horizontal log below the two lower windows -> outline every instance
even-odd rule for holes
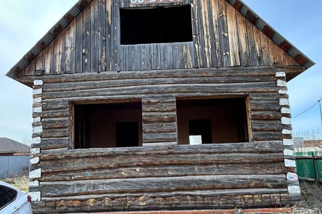
[[[283,174],[288,172],[284,162],[246,164],[205,164],[205,165],[159,165],[122,168],[99,168],[63,172],[43,172],[41,181],[90,180],[129,177],[170,177],[188,175],[220,174]]]

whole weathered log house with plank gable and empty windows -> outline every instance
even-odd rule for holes
[[[286,82],[313,65],[239,0],[78,1],[7,74],[34,212],[299,201]]]

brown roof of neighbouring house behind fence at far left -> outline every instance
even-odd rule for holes
[[[7,137],[0,137],[0,153],[29,152],[30,146]]]

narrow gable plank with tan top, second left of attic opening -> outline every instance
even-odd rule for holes
[[[106,0],[106,70],[114,71],[114,0]]]

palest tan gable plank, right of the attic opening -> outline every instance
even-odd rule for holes
[[[226,12],[227,12],[226,17],[227,17],[228,38],[229,38],[230,66],[239,66],[240,56],[239,56],[236,10],[227,2],[225,2],[225,5],[226,5]]]

